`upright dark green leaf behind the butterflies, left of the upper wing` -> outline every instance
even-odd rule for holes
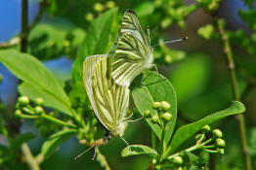
[[[74,82],[82,81],[82,65],[84,59],[89,55],[103,54],[107,52],[110,33],[115,20],[117,9],[107,11],[101,15],[90,26],[86,37],[79,48],[72,67],[72,78]]]

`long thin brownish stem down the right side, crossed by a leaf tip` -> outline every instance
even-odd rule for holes
[[[217,24],[219,34],[221,36],[221,40],[223,42],[224,53],[225,53],[228,63],[229,63],[229,69],[231,71],[234,99],[236,101],[239,101],[240,96],[239,96],[238,85],[237,85],[237,80],[236,80],[236,76],[235,76],[235,62],[234,62],[234,57],[233,57],[233,52],[231,49],[229,37],[225,33],[224,20],[221,18],[216,18],[216,24]],[[242,153],[244,154],[245,167],[246,167],[246,170],[251,170],[251,159],[250,159],[250,155],[248,152],[248,146],[247,146],[246,127],[245,127],[245,122],[244,122],[244,116],[242,114],[238,114],[238,115],[236,115],[236,119],[238,120],[240,141],[241,141],[241,145],[242,145]]]

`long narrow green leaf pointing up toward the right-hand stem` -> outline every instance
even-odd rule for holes
[[[181,144],[183,144],[186,140],[192,137],[192,135],[200,130],[204,125],[210,124],[218,119],[223,119],[231,115],[240,114],[244,111],[245,108],[243,104],[238,101],[234,101],[232,105],[226,110],[219,111],[203,119],[199,119],[195,122],[180,127],[175,133],[171,145],[167,149],[166,155],[176,152]]]

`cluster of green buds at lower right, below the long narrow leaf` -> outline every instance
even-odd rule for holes
[[[205,152],[224,154],[225,141],[222,137],[223,135],[220,129],[211,130],[209,125],[205,125],[200,130],[200,133],[195,136],[195,140],[196,144],[200,145],[201,149]]]

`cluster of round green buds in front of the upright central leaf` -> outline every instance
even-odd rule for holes
[[[156,111],[156,114],[151,114],[149,110],[144,112],[144,118],[150,119],[152,123],[158,123],[160,126],[164,127],[166,122],[172,119],[172,114],[168,111],[171,105],[166,101],[153,102],[152,109]]]

